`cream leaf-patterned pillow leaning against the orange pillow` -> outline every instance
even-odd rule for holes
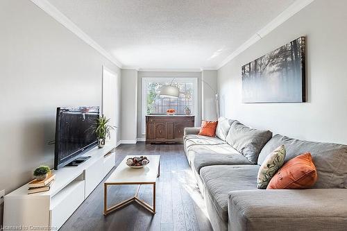
[[[270,153],[258,171],[257,188],[266,189],[271,178],[276,174],[278,169],[285,163],[285,146],[281,145]]]

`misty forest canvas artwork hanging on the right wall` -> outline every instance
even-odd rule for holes
[[[305,92],[305,37],[242,66],[243,103],[301,103]]]

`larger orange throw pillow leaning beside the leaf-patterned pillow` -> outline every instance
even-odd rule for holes
[[[311,153],[288,160],[270,180],[266,189],[307,189],[317,180]]]

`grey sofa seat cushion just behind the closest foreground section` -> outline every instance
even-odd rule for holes
[[[228,194],[233,190],[257,189],[257,165],[205,166],[200,176],[205,186],[205,200],[210,200],[208,212],[216,212],[228,221]]]

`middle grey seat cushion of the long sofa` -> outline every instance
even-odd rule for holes
[[[229,144],[192,146],[187,152],[187,160],[197,173],[204,166],[252,164]]]

